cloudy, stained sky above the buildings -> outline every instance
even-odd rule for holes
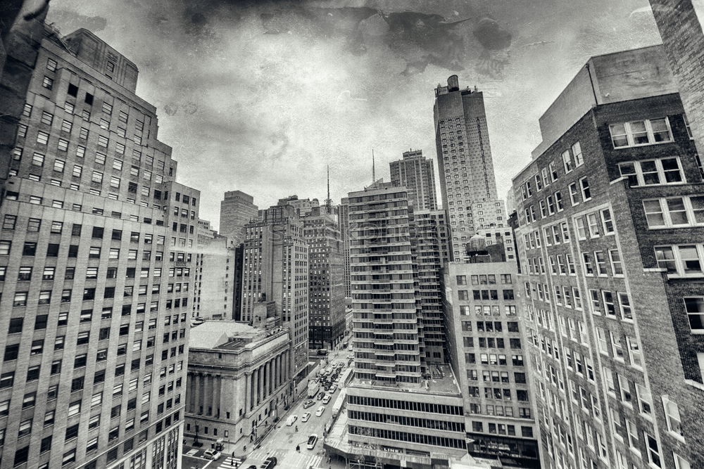
[[[409,148],[436,159],[433,89],[484,91],[498,193],[540,142],[538,117],[590,56],[658,44],[648,0],[54,0],[62,34],[137,64],[178,180],[218,226],[225,191],[332,199]],[[436,167],[437,170],[437,167]]]

